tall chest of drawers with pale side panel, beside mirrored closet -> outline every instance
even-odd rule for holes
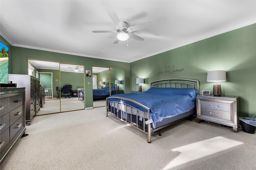
[[[16,83],[18,88],[26,88],[26,123],[30,125],[32,118],[36,115],[36,111],[40,109],[39,79],[25,74],[9,74],[8,80]]]

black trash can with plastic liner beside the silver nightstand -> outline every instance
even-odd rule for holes
[[[255,115],[254,115],[255,116]],[[246,133],[254,134],[256,130],[256,119],[250,117],[239,117],[242,130]]]

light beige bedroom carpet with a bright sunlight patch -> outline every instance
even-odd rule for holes
[[[183,120],[152,135],[105,107],[36,116],[1,170],[252,170],[256,134]]]

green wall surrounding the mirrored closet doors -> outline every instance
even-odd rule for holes
[[[12,47],[12,59],[9,61],[12,74],[27,74],[27,59],[54,61],[60,63],[82,64],[85,70],[92,70],[92,66],[124,68],[126,77],[126,91],[130,91],[130,63],[118,61],[94,59],[90,57],[81,57],[76,55],[68,55],[62,53],[54,53],[50,51],[42,51],[36,49],[28,49],[23,47]],[[9,59],[10,60],[10,59]],[[9,68],[9,69],[10,69]],[[92,98],[92,76],[85,77],[85,107],[93,107]],[[90,82],[90,85],[88,84]]]

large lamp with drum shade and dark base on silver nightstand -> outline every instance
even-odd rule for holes
[[[221,96],[221,86],[219,82],[226,82],[226,71],[225,70],[214,70],[207,73],[207,81],[215,82],[213,85],[212,94],[213,96]]]

